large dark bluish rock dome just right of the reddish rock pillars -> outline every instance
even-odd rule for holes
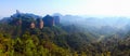
[[[43,24],[47,27],[52,27],[52,26],[54,26],[54,18],[50,15],[47,15],[43,17]]]

